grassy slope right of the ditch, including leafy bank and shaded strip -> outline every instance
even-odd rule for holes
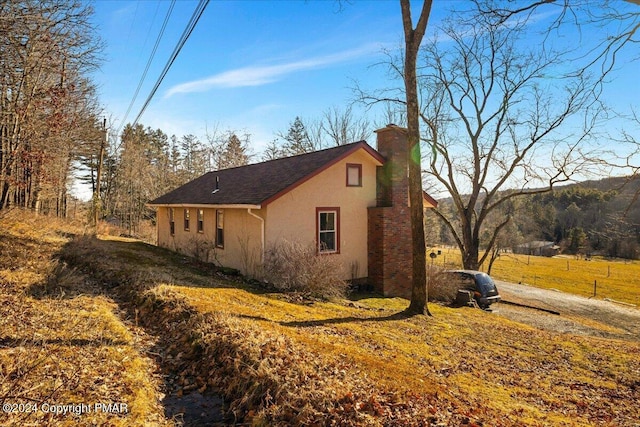
[[[139,243],[79,242],[70,258],[142,281],[141,317],[184,336],[172,358],[265,425],[635,425],[640,345],[551,333],[475,309],[305,303]],[[173,331],[173,332],[171,332]],[[181,345],[182,347],[179,347]]]

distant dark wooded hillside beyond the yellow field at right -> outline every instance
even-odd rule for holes
[[[640,258],[640,179],[612,177],[556,187],[553,192],[518,198],[506,211],[512,223],[500,246],[512,248],[531,241],[553,241],[567,254],[598,254]],[[452,200],[440,200],[447,212]],[[432,218],[431,228],[437,221]],[[489,218],[488,223],[492,219]],[[437,228],[436,228],[437,230]],[[448,233],[430,236],[432,244],[452,244]]]

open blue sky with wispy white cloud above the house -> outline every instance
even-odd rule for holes
[[[414,8],[420,7],[420,2],[414,3]],[[296,116],[313,120],[329,108],[344,108],[352,100],[354,80],[369,88],[388,87],[386,68],[373,65],[386,59],[383,49],[402,43],[399,2],[343,2],[342,10],[338,4],[211,1],[140,123],[178,137],[194,134],[204,139],[207,129],[215,127],[248,132],[259,154]],[[98,0],[93,5],[106,43],[105,62],[94,79],[100,101],[117,126],[170,2]],[[127,122],[140,111],[196,5],[185,0],[175,4]],[[464,2],[435,2],[429,34],[445,9],[456,5]],[[638,62],[626,63],[628,58],[620,60],[625,65],[606,87],[610,104],[619,110],[637,105],[639,95]],[[382,124],[375,110],[356,107],[355,112]]]

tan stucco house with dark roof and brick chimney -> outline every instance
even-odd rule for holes
[[[158,245],[255,275],[282,239],[339,257],[343,278],[387,296],[411,294],[406,130],[209,172],[149,202]],[[437,202],[425,193],[424,205]]]

